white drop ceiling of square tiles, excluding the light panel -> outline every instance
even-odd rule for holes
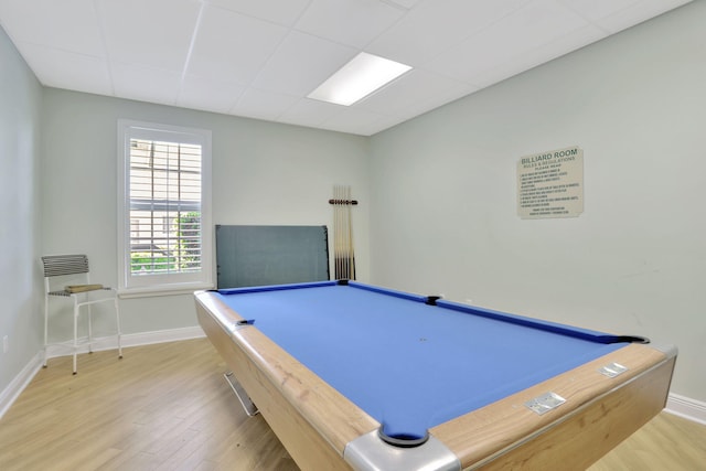
[[[371,136],[688,0],[0,0],[47,87]],[[414,68],[307,98],[360,52]]]

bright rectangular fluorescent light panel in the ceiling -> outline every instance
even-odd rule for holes
[[[408,65],[362,52],[307,96],[350,106],[410,68]]]

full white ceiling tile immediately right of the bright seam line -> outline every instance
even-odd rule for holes
[[[247,85],[287,29],[220,8],[205,8],[189,61],[192,75]]]

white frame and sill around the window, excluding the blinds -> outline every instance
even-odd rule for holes
[[[130,139],[201,144],[201,271],[132,276],[130,272]],[[211,224],[211,131],[171,125],[118,120],[118,293],[122,298],[191,293],[213,288]]]

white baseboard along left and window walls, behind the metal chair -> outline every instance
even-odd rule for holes
[[[200,339],[206,334],[200,327],[171,329],[157,332],[142,332],[122,335],[120,343],[126,346],[150,345],[153,343],[175,342],[180,340]],[[115,336],[95,339],[93,351],[117,349],[118,343]],[[88,345],[79,346],[78,353],[88,352]],[[72,342],[50,345],[46,350],[47,356],[54,358],[73,354]],[[32,360],[22,368],[22,371],[12,379],[12,382],[0,392],[0,418],[8,411],[10,406],[17,400],[24,388],[30,384],[36,372],[42,367],[44,362],[44,352],[39,351]]]

